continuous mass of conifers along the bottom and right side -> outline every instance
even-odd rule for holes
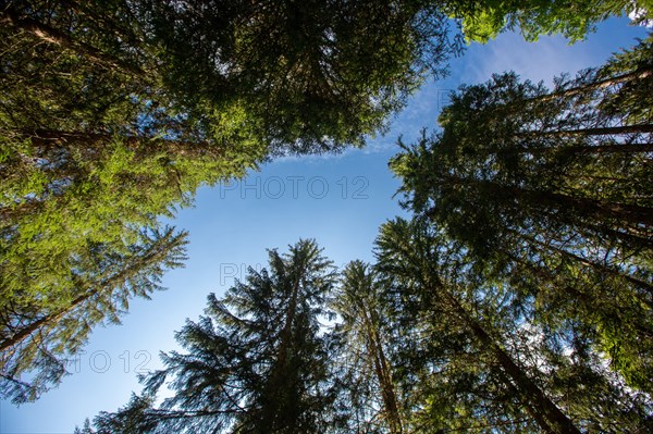
[[[652,60],[461,87],[391,161],[377,263],[270,251],[78,432],[651,431]]]

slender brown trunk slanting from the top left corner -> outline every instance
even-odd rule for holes
[[[106,52],[102,52],[97,48],[91,47],[85,42],[77,41],[73,39],[70,35],[58,30],[57,28],[50,27],[47,24],[39,23],[34,18],[22,15],[13,8],[5,7],[3,10],[0,11],[0,23],[11,24],[14,27],[29,33],[41,40],[74,51],[109,69],[120,70],[123,73],[127,73],[130,75],[134,75],[140,78],[146,77],[146,74],[141,69],[134,66],[121,59],[116,59],[113,55],[107,54]]]

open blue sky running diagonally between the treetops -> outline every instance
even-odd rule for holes
[[[562,72],[602,64],[645,35],[624,18],[603,23],[574,46],[559,37],[527,44],[518,35],[501,35],[455,59],[451,76],[429,82],[391,131],[366,149],[280,160],[239,183],[200,189],[195,208],[182,210],[174,221],[190,232],[189,260],[185,269],[167,274],[169,289],[150,301],[134,300],[121,326],[96,330],[59,388],[20,408],[0,401],[0,433],[72,433],[86,417],[124,405],[132,390],[140,389],[137,372],[161,367],[159,351],[177,348],[174,331],[202,313],[207,295],[222,294],[249,265],[264,266],[267,248],[285,250],[299,238],[315,238],[337,265],[371,261],[379,225],[403,213],[393,199],[398,181],[387,170],[396,138],[410,141],[420,128],[433,128],[449,90],[509,70],[551,83]]]

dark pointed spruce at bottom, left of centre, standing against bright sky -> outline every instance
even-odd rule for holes
[[[224,298],[209,296],[206,317],[177,334],[186,354],[163,355],[165,369],[145,379],[145,393],[95,419],[99,433],[326,432],[334,400],[332,340],[320,328],[335,270],[311,240],[269,269],[250,269]],[[153,397],[165,381],[173,396]]]

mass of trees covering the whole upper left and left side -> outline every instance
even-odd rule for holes
[[[0,22],[0,394],[16,404],[181,265],[185,234],[160,220],[199,186],[361,146],[459,49],[412,1],[12,0]]]

